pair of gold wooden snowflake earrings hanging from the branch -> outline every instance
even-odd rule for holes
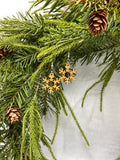
[[[69,57],[69,55],[68,55]],[[53,70],[53,63],[51,63],[51,69]],[[52,94],[55,90],[60,90],[60,81],[64,81],[67,85],[76,80],[76,71],[72,69],[69,61],[65,65],[65,69],[59,69],[59,78],[55,78],[53,71],[49,74],[48,78],[43,78],[43,89],[48,90]]]

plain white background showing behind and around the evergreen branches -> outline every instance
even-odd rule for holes
[[[28,0],[1,0],[0,18],[26,11]],[[76,65],[77,80],[65,85],[65,95],[77,116],[89,142],[88,147],[76,127],[71,115],[60,115],[58,133],[53,151],[58,160],[115,160],[120,154],[120,74],[114,73],[104,92],[103,112],[99,111],[101,85],[96,86],[81,108],[86,89],[97,80],[100,69],[96,65]],[[47,115],[43,120],[45,131],[52,137],[55,117]],[[46,149],[45,153],[48,155]],[[49,158],[52,160],[52,158]]]

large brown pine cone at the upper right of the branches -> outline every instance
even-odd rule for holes
[[[88,22],[88,30],[92,33],[92,35],[101,34],[101,32],[106,29],[106,23],[108,23],[107,15],[107,11],[103,8],[98,8],[97,11],[94,10],[91,13]]]

